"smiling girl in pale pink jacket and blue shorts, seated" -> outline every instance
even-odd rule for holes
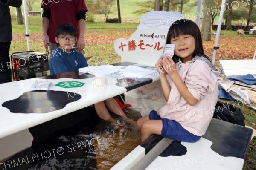
[[[204,54],[201,32],[191,20],[177,20],[166,43],[175,44],[172,58],[156,63],[167,103],[137,121],[141,141],[157,134],[184,142],[196,142],[207,130],[218,100],[218,69]]]

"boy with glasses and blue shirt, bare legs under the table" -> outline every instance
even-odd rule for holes
[[[76,71],[79,68],[88,66],[84,55],[74,49],[77,41],[77,32],[72,24],[60,24],[55,30],[55,40],[59,44],[59,47],[52,52],[49,61],[50,75]],[[127,118],[114,98],[109,98],[105,101],[96,103],[94,104],[94,107],[97,115],[105,121],[110,121],[119,126],[127,127],[126,125],[119,124],[115,121],[108,112],[108,110],[110,110],[116,115],[124,118],[128,123],[135,124],[133,120]]]

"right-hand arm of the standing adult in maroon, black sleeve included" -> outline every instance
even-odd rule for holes
[[[78,20],[78,25],[79,25],[79,37],[76,42],[76,49],[79,52],[81,52],[85,46],[85,43],[84,43],[85,13],[86,13],[86,10],[82,10],[76,14],[76,19]]]

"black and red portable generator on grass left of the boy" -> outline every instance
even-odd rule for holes
[[[15,81],[46,76],[46,71],[49,70],[47,55],[43,53],[14,52],[11,59],[12,77]]]

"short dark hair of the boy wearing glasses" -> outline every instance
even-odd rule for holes
[[[77,37],[76,28],[70,23],[61,23],[55,29],[55,37],[58,37],[61,34],[62,35],[72,35],[74,37]]]

